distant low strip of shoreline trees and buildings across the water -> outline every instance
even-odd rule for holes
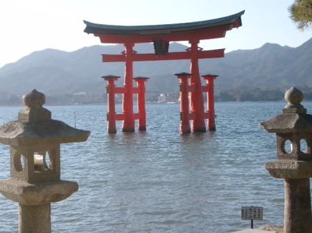
[[[312,101],[312,88],[308,86],[298,87],[302,93],[304,93],[304,101]],[[232,90],[220,90],[218,95],[214,96],[215,102],[284,102],[284,89],[272,88],[264,89],[260,88],[246,89],[246,88],[236,88]],[[166,95],[166,100],[159,101],[161,95]],[[94,97],[96,96],[96,97]],[[207,93],[203,93],[204,101],[207,100]],[[178,102],[180,97],[180,92],[174,93],[146,93],[147,103],[174,103]],[[134,97],[136,101],[136,97]],[[122,102],[122,95],[116,95],[116,104]],[[106,93],[98,93],[94,95],[91,93],[85,93],[80,97],[74,94],[65,95],[46,95],[46,105],[81,105],[81,104],[106,104],[107,95]],[[12,95],[7,99],[0,100],[0,106],[21,106],[21,95]]]

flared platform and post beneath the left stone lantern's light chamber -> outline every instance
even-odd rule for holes
[[[68,180],[26,183],[0,180],[3,196],[19,203],[19,233],[51,233],[51,203],[78,191],[78,183]]]

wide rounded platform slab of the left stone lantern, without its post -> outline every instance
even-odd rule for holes
[[[78,191],[78,183],[58,180],[44,183],[26,183],[19,180],[0,180],[3,196],[22,205],[43,205],[62,201]]]

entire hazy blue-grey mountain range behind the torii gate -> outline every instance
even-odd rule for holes
[[[172,43],[169,52],[187,46]],[[103,63],[101,54],[119,54],[122,45],[90,46],[73,52],[45,49],[0,68],[0,91],[23,95],[34,88],[45,94],[105,92],[103,75],[119,75],[123,85],[124,63]],[[138,53],[153,53],[153,44],[137,44]],[[175,73],[189,72],[189,60],[135,62],[134,76],[150,77],[148,93],[179,90]],[[312,39],[297,48],[264,44],[253,50],[235,50],[224,58],[201,59],[200,73],[219,75],[217,89],[312,86]]]

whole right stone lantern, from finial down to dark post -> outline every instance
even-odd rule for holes
[[[303,97],[300,90],[291,88],[281,115],[260,123],[262,129],[276,133],[277,160],[266,162],[265,167],[271,176],[285,180],[284,233],[312,232],[312,115],[300,104]],[[302,151],[304,146],[306,151]]]

